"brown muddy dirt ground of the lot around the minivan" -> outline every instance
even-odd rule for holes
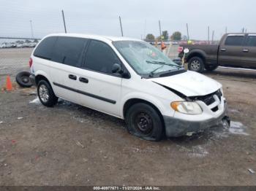
[[[1,86],[27,69],[29,57],[12,67],[1,58]],[[159,142],[67,101],[46,108],[33,87],[2,90],[0,185],[256,185],[256,71],[205,74],[223,85],[230,129]]]

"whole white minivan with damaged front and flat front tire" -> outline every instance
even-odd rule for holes
[[[43,105],[63,98],[119,117],[146,140],[196,133],[226,114],[219,82],[138,39],[51,34],[37,44],[29,66]]]

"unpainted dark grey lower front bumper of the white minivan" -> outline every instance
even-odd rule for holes
[[[209,120],[202,121],[189,121],[181,120],[174,117],[163,116],[165,121],[165,133],[167,137],[178,137],[185,136],[187,133],[197,133],[200,130],[206,130],[214,125],[218,125],[219,122],[226,116],[227,106],[225,104],[225,109],[222,114],[217,118],[211,118]]]

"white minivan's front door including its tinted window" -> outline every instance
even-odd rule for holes
[[[121,65],[118,56],[105,42],[91,40],[78,74],[80,101],[84,106],[117,117],[121,116],[121,75],[113,74],[114,63]]]

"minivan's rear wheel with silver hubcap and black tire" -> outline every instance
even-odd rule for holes
[[[40,88],[42,89],[40,90]],[[54,106],[58,102],[58,98],[54,94],[49,82],[44,79],[40,80],[37,85],[37,95],[44,106]],[[46,95],[48,95],[48,98]]]

